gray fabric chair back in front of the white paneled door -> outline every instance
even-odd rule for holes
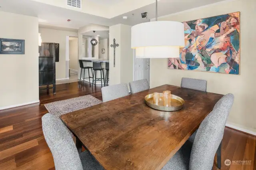
[[[149,83],[147,79],[132,81],[129,83],[129,86],[131,94],[149,89]]]

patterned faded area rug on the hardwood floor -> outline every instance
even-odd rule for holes
[[[100,101],[99,99],[96,99],[91,95],[86,95],[68,100],[48,103],[44,106],[49,113],[55,115],[56,117],[60,117],[60,115],[84,109],[86,107],[98,105],[100,103],[102,103],[102,101]]]

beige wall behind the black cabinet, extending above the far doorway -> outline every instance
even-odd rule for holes
[[[56,79],[66,78],[66,36],[77,37],[77,32],[39,28],[43,42],[60,44],[60,59],[56,62]]]

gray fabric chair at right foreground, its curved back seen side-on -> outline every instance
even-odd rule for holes
[[[222,97],[202,121],[194,143],[187,140],[162,170],[211,170],[233,102],[230,93]]]

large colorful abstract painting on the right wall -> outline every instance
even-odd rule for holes
[[[183,22],[185,47],[169,69],[239,75],[240,12]]]

